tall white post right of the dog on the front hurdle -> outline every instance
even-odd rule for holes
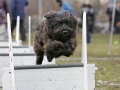
[[[87,70],[87,39],[86,39],[86,12],[83,13],[82,29],[82,63],[84,64],[84,90],[88,90],[88,70]]]

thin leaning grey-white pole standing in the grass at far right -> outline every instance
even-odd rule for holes
[[[113,30],[114,30],[114,22],[115,22],[115,9],[116,9],[116,0],[114,0],[114,5],[113,5],[113,12],[112,12],[112,23],[111,23],[111,33],[110,33],[110,42],[109,42],[109,50],[108,54],[111,54],[112,52],[112,39],[113,39]]]

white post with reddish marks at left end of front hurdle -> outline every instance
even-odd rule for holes
[[[8,29],[8,40],[9,40],[9,64],[12,73],[12,90],[15,90],[15,73],[14,73],[14,61],[13,61],[13,51],[12,51],[12,38],[11,38],[11,23],[10,15],[7,14],[7,29]]]

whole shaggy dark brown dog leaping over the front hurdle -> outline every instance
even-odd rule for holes
[[[35,31],[36,64],[42,64],[44,54],[51,62],[61,55],[69,57],[76,48],[77,20],[68,11],[51,11]]]

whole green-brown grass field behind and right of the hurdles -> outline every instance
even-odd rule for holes
[[[80,63],[80,60],[72,58],[81,57],[81,34],[77,35],[78,46],[69,61],[57,61],[58,64]],[[32,35],[33,43],[33,35]],[[27,42],[25,43],[27,44]],[[112,54],[108,55],[109,35],[93,34],[92,41],[87,46],[88,58],[93,57],[96,60],[88,60],[88,63],[95,63],[96,71],[96,89],[95,90],[120,90],[120,35],[114,35]],[[106,57],[107,60],[97,60],[97,58]],[[60,57],[66,58],[66,57]]]

